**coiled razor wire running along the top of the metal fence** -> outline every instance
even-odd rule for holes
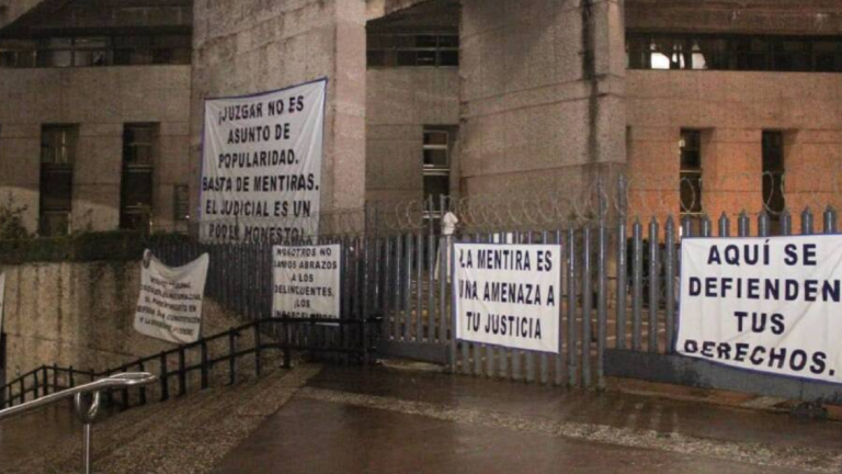
[[[539,178],[527,188],[513,185],[514,189],[493,193],[374,201],[359,208],[276,219],[272,226],[298,228],[306,237],[375,236],[432,232],[445,213],[453,213],[463,232],[483,233],[578,228],[618,218],[646,221],[671,216],[676,223],[743,214],[774,218],[784,212],[798,214],[804,208],[821,213],[842,207],[842,161],[822,167],[799,165],[781,173],[722,173],[697,179],[647,176],[637,170],[611,171],[573,183]],[[214,223],[265,225],[241,218]]]

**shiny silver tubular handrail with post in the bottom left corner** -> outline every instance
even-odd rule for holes
[[[38,408],[54,405],[67,398],[73,398],[76,415],[82,422],[82,472],[91,473],[91,426],[100,409],[100,394],[103,391],[123,390],[149,385],[156,376],[150,373],[121,373],[100,379],[98,381],[62,390],[41,398],[25,402],[21,405],[0,410],[0,421],[14,416],[23,415]],[[90,396],[90,399],[86,399]]]

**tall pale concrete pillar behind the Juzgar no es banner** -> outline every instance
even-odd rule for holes
[[[198,183],[205,98],[268,91],[327,76],[322,207],[361,207],[365,198],[365,19],[363,0],[196,0],[192,182]],[[192,200],[195,208],[195,187]]]

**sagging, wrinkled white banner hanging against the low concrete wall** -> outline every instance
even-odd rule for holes
[[[207,253],[184,267],[171,268],[149,250],[144,256],[135,330],[174,343],[198,340],[205,295]]]

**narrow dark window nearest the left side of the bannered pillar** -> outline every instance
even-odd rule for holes
[[[121,228],[150,230],[157,135],[158,126],[155,124],[127,124],[123,128]]]

